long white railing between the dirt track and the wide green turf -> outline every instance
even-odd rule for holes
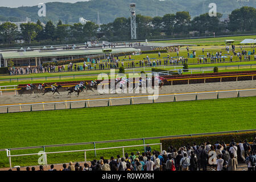
[[[113,100],[123,100],[123,99],[129,99],[130,104],[134,104],[134,99],[135,98],[150,98],[152,100],[152,103],[155,103],[155,98],[157,97],[167,97],[167,96],[174,96],[174,102],[177,100],[177,96],[188,96],[188,95],[196,95],[195,100],[197,100],[197,96],[199,94],[216,94],[216,98],[219,98],[219,93],[231,93],[231,92],[237,92],[237,97],[240,97],[240,92],[245,92],[245,91],[255,91],[256,88],[254,89],[236,89],[236,90],[222,90],[222,91],[208,91],[208,92],[192,92],[192,93],[174,93],[174,94],[159,94],[158,96],[156,95],[148,95],[148,96],[132,96],[132,97],[114,97],[114,98],[96,98],[96,99],[85,99],[85,100],[75,100],[75,101],[55,101],[55,102],[35,102],[35,103],[28,103],[28,104],[10,104],[10,105],[0,105],[1,107],[7,107],[7,113],[8,113],[8,108],[9,107],[14,107],[18,106],[20,112],[22,112],[22,106],[31,106],[31,111],[32,111],[32,106],[33,105],[42,105],[42,108],[44,110],[44,105],[49,105],[49,104],[65,104],[65,109],[72,109],[71,108],[71,103],[75,102],[85,102],[85,107],[90,107],[90,102],[92,101],[108,101],[108,106],[112,106],[112,101]],[[228,98],[228,97],[227,97]],[[86,104],[87,103],[87,104]],[[68,108],[68,104],[70,104]],[[101,105],[105,106],[105,105]]]

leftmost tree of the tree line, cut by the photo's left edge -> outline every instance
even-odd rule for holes
[[[14,23],[5,22],[0,25],[0,35],[3,36],[7,44],[11,44],[18,34],[18,27]]]

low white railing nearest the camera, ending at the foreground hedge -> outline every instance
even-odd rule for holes
[[[153,144],[139,144],[139,145],[135,145],[135,146],[120,146],[120,147],[108,147],[108,148],[93,148],[93,149],[86,149],[86,150],[72,150],[72,151],[57,151],[57,152],[42,152],[42,153],[34,153],[34,154],[18,154],[18,155],[11,155],[11,151],[9,149],[6,149],[6,156],[7,158],[9,158],[9,164],[10,164],[10,168],[11,168],[11,158],[13,157],[18,157],[18,156],[29,156],[29,155],[44,155],[44,160],[46,162],[46,166],[47,164],[47,154],[61,154],[61,153],[68,153],[68,152],[84,152],[84,160],[85,163],[87,162],[86,159],[86,152],[87,151],[96,151],[96,150],[110,150],[110,149],[115,149],[115,148],[122,148],[122,152],[123,152],[123,158],[125,157],[125,148],[129,148],[129,147],[145,147],[145,146],[155,146],[155,145],[160,145],[160,152],[162,153],[162,143],[153,143]]]

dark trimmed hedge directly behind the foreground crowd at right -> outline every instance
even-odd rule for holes
[[[177,137],[177,138],[165,138],[160,139],[160,143],[163,145],[163,150],[167,150],[168,147],[174,146],[179,148],[180,146],[193,146],[193,142],[197,145],[201,143],[210,142],[211,144],[216,143],[216,141],[224,141],[225,143],[230,143],[232,139],[235,142],[239,142],[240,140],[247,140],[248,142],[253,142],[254,138],[256,137],[256,132],[245,132],[245,133],[230,133],[230,134],[215,134],[215,135],[204,135],[198,137]]]

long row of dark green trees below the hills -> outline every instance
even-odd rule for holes
[[[232,11],[229,22],[221,21],[222,14],[210,17],[202,14],[191,19],[188,11],[164,16],[143,16],[138,14],[137,39],[172,38],[189,36],[190,31],[196,31],[196,36],[212,35],[220,32],[248,32],[256,29],[256,9],[242,7]],[[14,23],[5,22],[0,26],[3,43],[12,44],[16,39],[26,43],[51,42],[86,42],[89,40],[122,41],[130,40],[130,18],[116,18],[114,22],[98,25],[93,22],[86,24],[63,24],[61,20],[55,25],[49,20],[46,26],[38,20],[36,23],[20,24],[20,31]]]

